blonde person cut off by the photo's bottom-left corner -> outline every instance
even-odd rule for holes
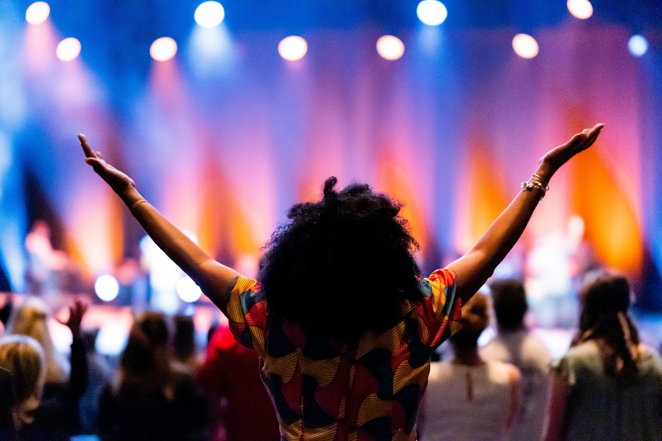
[[[0,439],[19,440],[34,422],[44,389],[44,354],[25,335],[0,340]]]

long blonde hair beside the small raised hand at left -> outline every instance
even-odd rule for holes
[[[26,335],[39,342],[44,354],[46,383],[63,383],[67,381],[66,362],[53,345],[48,331],[47,317],[44,308],[34,302],[21,305],[12,313],[9,333]]]

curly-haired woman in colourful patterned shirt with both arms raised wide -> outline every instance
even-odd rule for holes
[[[473,249],[428,278],[420,278],[402,205],[367,184],[338,191],[331,177],[322,200],[295,204],[273,234],[260,282],[211,259],[84,135],[79,140],[85,161],[154,243],[228,317],[235,338],[256,350],[281,438],[414,440],[432,352],[459,329],[462,303],[522,235],[555,171],[600,130],[596,124],[549,151]]]

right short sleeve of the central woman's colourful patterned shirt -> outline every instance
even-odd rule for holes
[[[416,304],[418,333],[426,346],[436,347],[459,330],[462,301],[455,272],[436,270],[420,282],[423,299]]]

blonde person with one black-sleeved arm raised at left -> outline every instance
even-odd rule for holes
[[[69,440],[80,429],[79,400],[87,387],[87,360],[81,339],[81,321],[87,305],[76,300],[69,308],[69,318],[60,322],[72,336],[70,372],[53,345],[48,331],[48,316],[37,303],[17,307],[9,319],[13,335],[27,335],[38,341],[44,352],[44,395],[34,422],[24,431],[25,440]]]

